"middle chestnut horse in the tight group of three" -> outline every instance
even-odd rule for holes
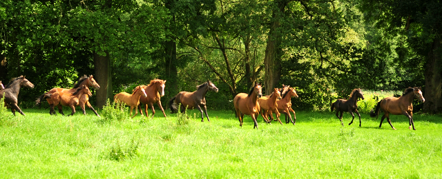
[[[267,123],[271,123],[271,120],[273,120],[273,114],[272,112],[275,112],[276,118],[278,119],[279,123],[282,125],[281,120],[279,118],[280,113],[278,112],[278,104],[276,103],[277,99],[281,99],[281,92],[278,88],[273,89],[273,92],[271,95],[267,98],[266,96],[262,96],[261,98],[258,98],[258,103],[260,104],[261,108],[261,116],[266,120]],[[270,116],[267,118],[267,116]]]

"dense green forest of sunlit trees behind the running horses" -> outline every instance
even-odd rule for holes
[[[428,0],[0,1],[0,81],[23,75],[20,107],[84,74],[103,107],[118,92],[166,80],[162,103],[208,79],[210,109],[262,83],[296,87],[294,109],[327,111],[354,88],[422,87],[442,111],[442,4]]]

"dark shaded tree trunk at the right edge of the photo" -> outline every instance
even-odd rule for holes
[[[442,59],[441,39],[432,44],[425,66],[425,103],[423,112],[431,114],[442,112]]]

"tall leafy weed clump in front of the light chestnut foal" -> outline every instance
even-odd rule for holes
[[[113,120],[128,120],[131,118],[127,113],[128,107],[124,103],[111,103],[109,99],[102,110],[102,118],[99,119],[101,123],[110,123]]]

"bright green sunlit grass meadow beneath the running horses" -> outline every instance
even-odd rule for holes
[[[8,110],[9,111],[9,110]],[[25,109],[26,116],[0,121],[0,178],[442,178],[442,118],[405,116],[385,121],[333,112],[297,112],[296,125],[209,111],[189,123],[175,114],[111,120],[50,116]],[[10,111],[9,111],[10,112]],[[66,112],[69,112],[67,110]],[[284,118],[282,118],[284,120]]]

